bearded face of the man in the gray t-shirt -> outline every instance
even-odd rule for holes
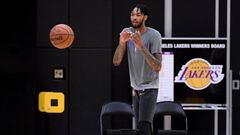
[[[130,19],[132,22],[132,26],[134,28],[139,28],[145,22],[146,16],[143,13],[141,13],[141,10],[139,8],[134,8],[131,12]]]

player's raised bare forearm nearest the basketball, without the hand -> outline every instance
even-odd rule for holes
[[[123,56],[126,52],[126,42],[119,42],[119,45],[114,53],[113,56],[113,64],[114,66],[118,66],[120,65],[120,63],[122,62]]]

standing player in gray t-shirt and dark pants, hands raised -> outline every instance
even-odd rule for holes
[[[152,135],[162,62],[161,34],[146,26],[148,9],[143,4],[132,8],[130,19],[132,27],[124,28],[120,33],[113,64],[118,66],[127,50],[136,125],[141,135]]]

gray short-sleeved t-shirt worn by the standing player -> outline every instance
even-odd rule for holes
[[[130,27],[134,32],[134,29]],[[150,27],[141,35],[144,47],[151,54],[162,53],[161,34]],[[158,88],[158,73],[152,70],[132,40],[127,42],[128,65],[131,87],[135,90]]]

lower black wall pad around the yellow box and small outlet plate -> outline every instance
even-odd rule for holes
[[[37,92],[62,92],[65,95],[65,110],[63,113],[49,114],[38,110],[38,134],[68,134],[68,51],[54,48],[38,48],[36,55]],[[54,80],[54,68],[65,69],[64,80]],[[36,109],[38,109],[37,106]]]

